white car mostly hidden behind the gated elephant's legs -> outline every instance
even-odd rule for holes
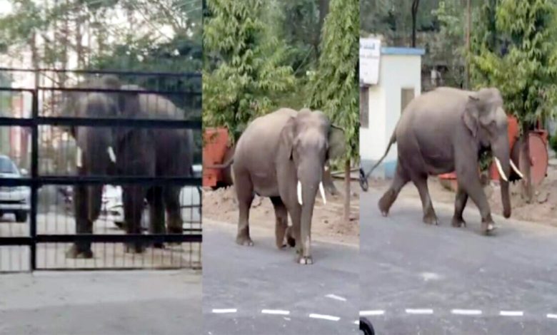
[[[194,175],[201,177],[201,165],[194,165]],[[199,187],[186,186],[180,192],[180,205],[184,223],[201,222],[201,197]],[[103,188],[101,213],[114,224],[124,227],[124,205],[122,203],[122,189],[119,186],[106,185]],[[149,205],[145,200],[144,215],[141,227],[149,227]]]

